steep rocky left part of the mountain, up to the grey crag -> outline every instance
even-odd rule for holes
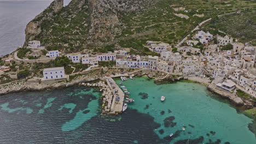
[[[103,46],[114,41],[125,28],[120,21],[122,15],[142,10],[154,2],[73,0],[63,7],[63,0],[55,0],[28,23],[25,45],[27,41],[37,39],[49,50]]]

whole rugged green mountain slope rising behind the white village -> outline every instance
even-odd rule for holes
[[[146,40],[175,44],[203,20],[250,7],[255,4],[243,0],[72,0],[66,7],[55,0],[28,23],[26,41],[65,52],[121,46],[152,54],[142,46]]]

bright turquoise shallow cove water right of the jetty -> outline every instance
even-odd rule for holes
[[[170,133],[177,132],[178,136],[171,143],[186,143],[179,140],[188,139],[199,143],[256,143],[255,135],[248,129],[252,119],[237,113],[228,103],[214,99],[199,83],[156,85],[145,77],[115,81],[123,83],[130,92],[129,98],[135,100],[129,104],[129,109],[148,113],[161,125],[152,129],[161,139],[168,139]],[[162,95],[166,97],[164,102],[160,100]]]

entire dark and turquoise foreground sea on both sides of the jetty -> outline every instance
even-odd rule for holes
[[[118,116],[102,116],[101,93],[88,87],[2,95],[0,143],[256,143],[253,119],[199,83],[123,85],[135,102]]]

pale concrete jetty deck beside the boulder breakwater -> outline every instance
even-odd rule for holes
[[[125,94],[124,92],[119,88],[117,83],[112,79],[112,77],[105,77],[107,84],[109,88],[111,89],[113,93],[113,100],[110,107],[110,114],[116,114],[123,112],[123,104],[124,104],[124,98]],[[119,100],[116,100],[116,98],[120,98]]]

